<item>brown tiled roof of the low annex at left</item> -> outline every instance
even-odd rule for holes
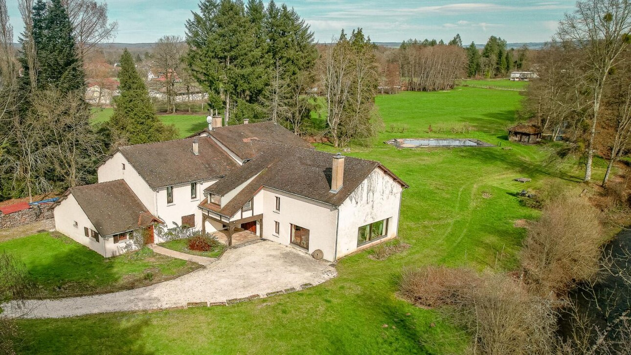
[[[102,236],[135,230],[156,219],[124,180],[71,187],[68,193]]]

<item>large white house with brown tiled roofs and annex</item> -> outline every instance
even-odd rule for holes
[[[105,257],[128,248],[129,233],[155,223],[235,230],[337,260],[394,238],[401,192],[385,166],[316,151],[273,122],[221,127],[117,149],[98,183],[73,187],[54,207],[58,231]]]

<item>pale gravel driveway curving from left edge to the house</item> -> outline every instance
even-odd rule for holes
[[[337,276],[330,262],[264,241],[228,249],[221,259],[170,281],[138,289],[61,300],[29,300],[24,310],[1,305],[4,315],[62,318],[114,311],[231,305],[320,284]]]

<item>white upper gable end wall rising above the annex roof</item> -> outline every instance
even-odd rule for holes
[[[122,169],[125,164],[125,170]],[[98,182],[107,182],[123,179],[129,185],[131,190],[138,196],[144,207],[149,212],[155,214],[155,192],[149,187],[144,179],[136,172],[136,169],[129,164],[121,152],[116,152],[112,158],[105,161],[103,165],[98,167]]]

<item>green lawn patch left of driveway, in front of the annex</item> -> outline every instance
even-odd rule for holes
[[[57,298],[136,288],[172,279],[199,265],[150,249],[105,259],[67,236],[48,232],[0,243],[17,255],[38,285],[38,297]],[[149,276],[151,275],[151,276]]]

